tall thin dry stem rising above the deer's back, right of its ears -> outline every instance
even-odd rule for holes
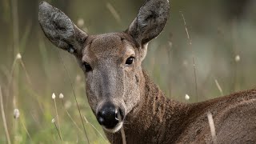
[[[184,14],[182,13],[182,11],[180,11],[181,15],[182,15],[182,19],[183,19],[183,22],[184,22],[184,26],[185,26],[185,30],[186,30],[186,36],[187,36],[187,39],[189,41],[189,44],[190,44],[190,48],[192,50],[192,40],[190,38],[190,34],[189,34],[189,30],[187,30],[187,27],[186,27],[186,19],[184,17]],[[192,54],[193,54],[193,51],[192,51]],[[195,67],[195,62],[194,62],[194,54],[192,55],[192,61],[193,61],[193,68],[194,68],[194,83],[195,83],[195,93],[196,93],[196,102],[198,102],[198,82],[197,82],[197,74],[196,74],[196,67]]]

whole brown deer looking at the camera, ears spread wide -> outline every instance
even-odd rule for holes
[[[127,143],[256,143],[256,89],[178,102],[166,98],[143,70],[148,43],[162,32],[169,13],[168,0],[146,0],[126,30],[89,35],[41,2],[38,21],[54,46],[77,59],[90,108],[111,143],[122,143],[122,127]]]

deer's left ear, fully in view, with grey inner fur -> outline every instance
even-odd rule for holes
[[[87,34],[78,29],[61,10],[50,6],[47,2],[41,2],[38,21],[46,37],[55,46],[70,53],[78,53],[82,50],[82,42],[86,39]]]

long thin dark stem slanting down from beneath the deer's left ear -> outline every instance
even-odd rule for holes
[[[78,106],[78,100],[77,100],[77,97],[76,97],[75,92],[74,92],[74,86],[73,86],[73,83],[72,83],[71,78],[70,78],[70,73],[69,73],[69,71],[67,70],[66,65],[65,65],[65,63],[64,63],[64,61],[63,61],[63,59],[62,59],[60,50],[58,50],[58,58],[60,59],[60,61],[62,62],[62,65],[63,65],[63,67],[64,67],[64,69],[66,70],[66,74],[67,74],[67,76],[68,76],[68,80],[69,80],[69,82],[70,82],[70,86],[71,86],[72,91],[73,91],[74,100],[75,100],[76,105],[77,105],[77,107],[78,107],[78,112],[79,112],[79,115],[80,115],[80,118],[81,118],[81,121],[82,121],[83,130],[85,131],[87,142],[90,144],[89,138],[88,138],[87,133],[86,133],[86,127],[85,127],[85,124],[83,123],[83,120],[82,120],[81,110],[80,110],[80,107]]]

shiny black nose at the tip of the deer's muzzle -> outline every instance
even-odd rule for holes
[[[98,110],[97,119],[99,124],[105,126],[107,129],[113,129],[119,122],[118,113],[120,113],[121,118],[123,118],[121,109],[118,109],[113,104],[107,103]]]

